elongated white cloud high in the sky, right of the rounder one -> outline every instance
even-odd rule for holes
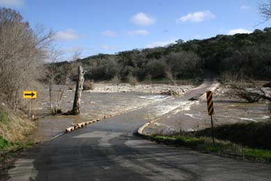
[[[208,19],[215,18],[215,15],[210,10],[197,11],[194,13],[188,13],[187,15],[177,19],[177,22],[203,22]]]

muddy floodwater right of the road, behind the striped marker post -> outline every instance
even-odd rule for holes
[[[247,103],[233,99],[215,91],[213,105],[214,126],[230,123],[245,123],[270,120],[268,103]],[[145,129],[149,134],[176,134],[181,131],[192,132],[211,127],[211,118],[207,113],[206,97],[193,101],[189,109],[180,109],[170,115],[159,118],[156,123]]]

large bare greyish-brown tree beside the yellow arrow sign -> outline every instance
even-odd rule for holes
[[[31,29],[15,10],[0,8],[0,94],[12,109],[22,107],[22,91],[36,88],[54,33]]]

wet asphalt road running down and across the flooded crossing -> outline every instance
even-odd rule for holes
[[[271,165],[158,145],[133,134],[147,120],[189,104],[190,97],[210,85],[38,145],[18,159],[6,176],[16,181],[271,180]]]

